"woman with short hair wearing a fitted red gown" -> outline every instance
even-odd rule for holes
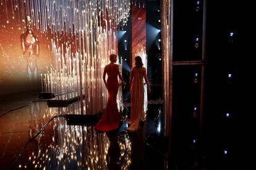
[[[109,55],[109,60],[111,62],[105,66],[103,72],[103,81],[106,88],[108,89],[108,102],[106,104],[102,118],[95,125],[95,130],[97,132],[107,132],[119,128],[119,120],[122,118],[116,103],[116,95],[119,89],[117,76],[119,76],[124,86],[126,86],[126,82],[124,82],[124,79],[122,78],[119,65],[115,64],[117,61],[117,55]],[[108,74],[107,81],[106,74]]]

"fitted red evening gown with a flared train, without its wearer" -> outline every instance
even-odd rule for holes
[[[119,128],[119,120],[122,118],[116,103],[116,95],[119,89],[117,78],[108,78],[106,86],[108,89],[108,102],[102,118],[95,125],[97,132],[106,132]]]

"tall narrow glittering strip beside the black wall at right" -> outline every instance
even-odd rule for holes
[[[168,160],[171,160],[173,119],[173,0],[161,1],[164,136],[168,136]],[[170,165],[171,161],[169,161]],[[167,165],[168,168],[168,165]]]

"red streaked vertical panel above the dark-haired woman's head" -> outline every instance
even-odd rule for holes
[[[146,47],[146,9],[132,4],[132,67],[137,52]]]

